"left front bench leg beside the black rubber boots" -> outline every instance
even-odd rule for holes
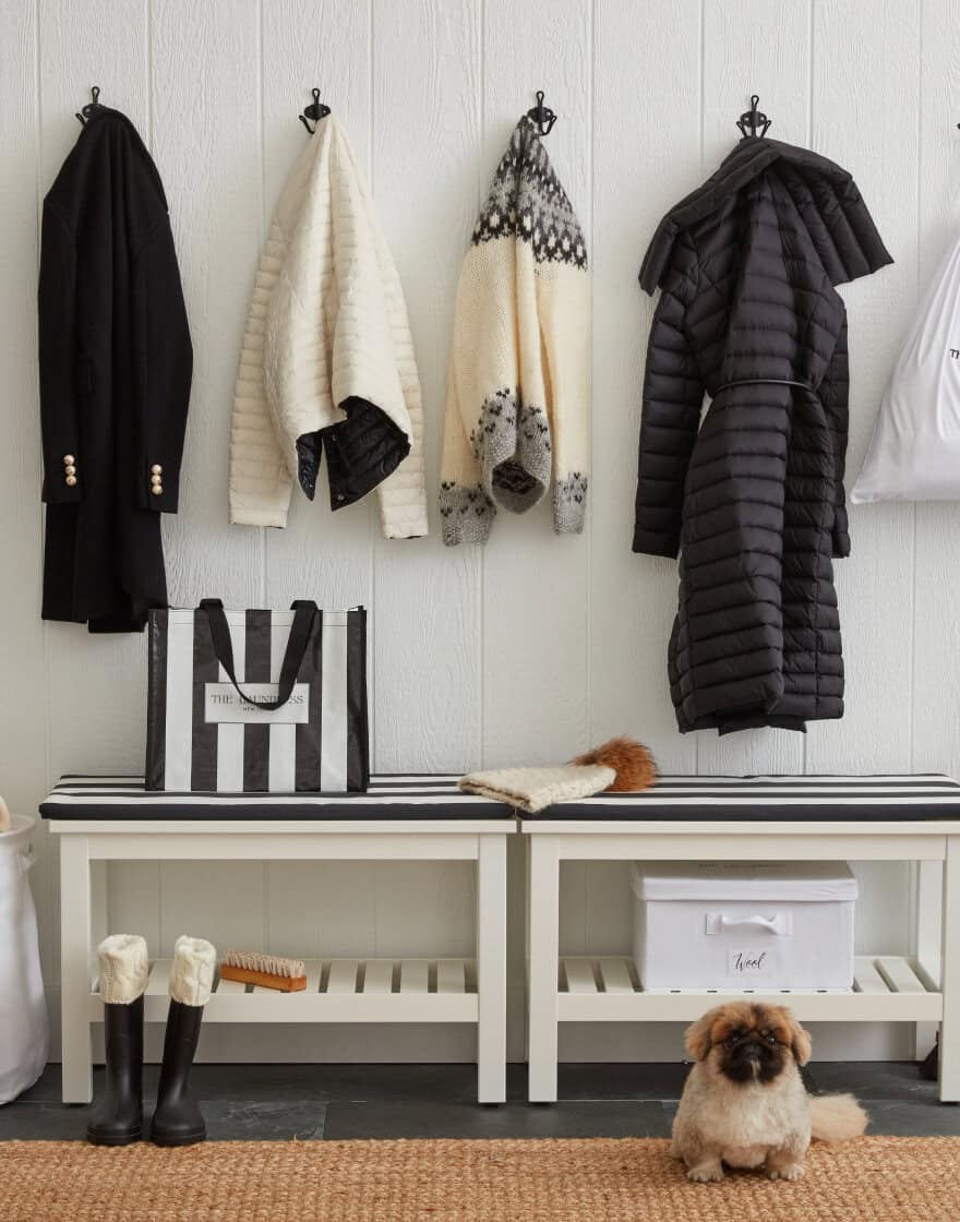
[[[60,1029],[64,1102],[93,1099],[90,1056],[90,860],[85,836],[60,837]]]

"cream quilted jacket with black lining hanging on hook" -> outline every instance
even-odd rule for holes
[[[348,415],[351,400],[363,412]],[[320,433],[332,425],[340,436]],[[256,269],[233,395],[230,521],[285,527],[293,481],[313,499],[320,446],[330,458],[340,441],[336,452],[352,462],[358,452],[362,462],[365,451],[370,457],[349,495],[337,491],[331,464],[331,507],[382,480],[384,536],[425,535],[423,435],[399,276],[363,174],[330,115],[293,166]],[[385,436],[393,446],[387,459]],[[386,478],[385,467],[392,470]]]

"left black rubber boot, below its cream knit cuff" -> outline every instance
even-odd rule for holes
[[[129,1145],[143,1136],[143,993],[129,1004],[104,1004],[106,1086],[87,1140]]]

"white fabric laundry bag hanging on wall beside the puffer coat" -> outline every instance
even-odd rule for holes
[[[960,501],[960,240],[917,307],[850,500]]]

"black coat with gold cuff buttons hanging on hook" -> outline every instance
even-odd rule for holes
[[[43,617],[139,631],[166,606],[193,353],[160,175],[106,106],[44,200],[39,327]]]

